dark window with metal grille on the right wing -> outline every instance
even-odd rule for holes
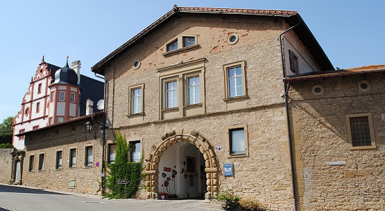
[[[367,116],[350,118],[350,131],[352,133],[352,146],[370,146],[370,127]]]

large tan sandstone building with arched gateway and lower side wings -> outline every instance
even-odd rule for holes
[[[50,161],[24,181],[98,194],[114,129],[144,158],[142,198],[232,189],[272,210],[381,210],[384,68],[335,71],[295,11],[175,6],[92,67],[105,142],[83,128],[98,115],[26,133],[26,156]]]

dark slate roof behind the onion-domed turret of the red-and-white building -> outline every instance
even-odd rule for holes
[[[85,116],[87,98],[94,100],[94,112],[99,111],[96,104],[104,98],[104,82],[80,74],[80,116]]]

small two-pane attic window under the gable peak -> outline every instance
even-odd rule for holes
[[[196,35],[180,35],[174,37],[169,42],[166,43],[166,53],[163,55],[168,55],[169,53],[183,51],[185,49],[191,49],[197,47]]]

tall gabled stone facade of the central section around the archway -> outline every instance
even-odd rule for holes
[[[264,16],[228,15],[223,20],[221,15],[199,13],[170,18],[140,37],[140,42],[108,59],[102,71],[96,66],[94,71],[103,73],[108,81],[108,120],[128,140],[141,142],[148,174],[148,190],[140,194],[142,197],[157,198],[164,189],[161,176],[167,167],[162,166],[162,158],[171,153],[169,147],[189,143],[205,160],[205,175],[201,176],[206,178],[206,198],[232,189],[240,196],[255,196],[274,210],[292,210],[278,39],[289,24],[283,18]],[[231,35],[237,35],[237,42],[230,43]],[[195,45],[167,50],[169,43],[184,36],[195,37]],[[322,71],[298,35],[288,34],[283,44],[285,52],[296,50],[300,68]],[[289,65],[287,60],[289,53],[284,54]],[[140,62],[139,66],[135,62]],[[225,66],[231,64],[243,64],[246,93],[239,98],[226,96]],[[200,103],[194,107],[185,104],[185,75],[191,73],[203,77]],[[170,79],[178,80],[178,106],[166,109],[164,83]],[[143,90],[142,112],[135,115],[130,111],[132,87]],[[246,131],[246,153],[241,156],[230,155],[229,133],[234,127]],[[224,163],[232,164],[233,176],[224,176]],[[183,162],[169,160],[168,165],[184,174]]]

